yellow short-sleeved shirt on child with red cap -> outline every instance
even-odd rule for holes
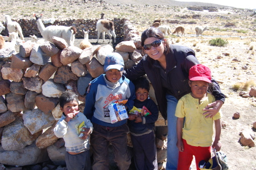
[[[202,99],[193,98],[191,93],[181,97],[177,103],[175,116],[185,117],[182,138],[191,146],[209,147],[212,146],[213,121],[221,118],[218,112],[213,118],[205,118],[203,109],[208,103],[215,101],[212,94]]]

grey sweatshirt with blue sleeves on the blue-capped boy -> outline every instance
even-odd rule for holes
[[[119,79],[119,86],[111,88],[104,80],[105,74],[101,74],[90,82],[90,92],[85,97],[84,115],[91,122],[97,123],[101,126],[118,127],[127,122],[127,119],[111,123],[110,117],[105,117],[105,111],[108,110],[108,106],[115,101],[122,101],[128,99],[125,106],[127,110],[133,109],[135,99],[134,84],[122,76]]]

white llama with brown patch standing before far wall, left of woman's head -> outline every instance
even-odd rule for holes
[[[105,32],[109,35],[109,43],[112,40],[112,35],[114,37],[115,43],[115,30],[114,30],[114,22],[112,20],[100,19],[96,24],[96,30],[98,31],[98,39],[100,38],[102,32],[103,42],[105,42]],[[98,39],[97,42],[98,43]]]

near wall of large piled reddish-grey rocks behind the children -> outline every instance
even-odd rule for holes
[[[24,166],[51,160],[55,165],[65,165],[63,139],[53,133],[62,114],[58,97],[65,90],[72,90],[79,96],[79,107],[83,111],[86,87],[92,78],[104,73],[108,53],[120,53],[125,68],[133,67],[142,59],[139,32],[129,20],[120,21],[124,41],[118,43],[115,50],[109,44],[84,50],[68,47],[64,39],[57,37],[53,37],[52,43],[22,43],[19,53],[11,47],[0,49],[0,163]],[[90,25],[84,27],[90,28]],[[150,97],[156,102],[152,86]],[[160,169],[167,156],[167,126],[160,113],[155,126]],[[133,146],[130,135],[127,136],[132,156]],[[110,154],[110,158],[113,155]],[[113,159],[110,164],[115,167]]]

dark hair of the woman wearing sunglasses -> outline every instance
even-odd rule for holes
[[[150,37],[155,37],[160,40],[164,39],[163,32],[160,31],[158,28],[155,28],[155,27],[147,28],[147,30],[144,30],[141,35],[142,47],[144,45],[145,40]],[[168,41],[166,40],[166,51],[164,51],[164,54],[166,55],[169,52],[170,52],[170,45],[169,45]]]

